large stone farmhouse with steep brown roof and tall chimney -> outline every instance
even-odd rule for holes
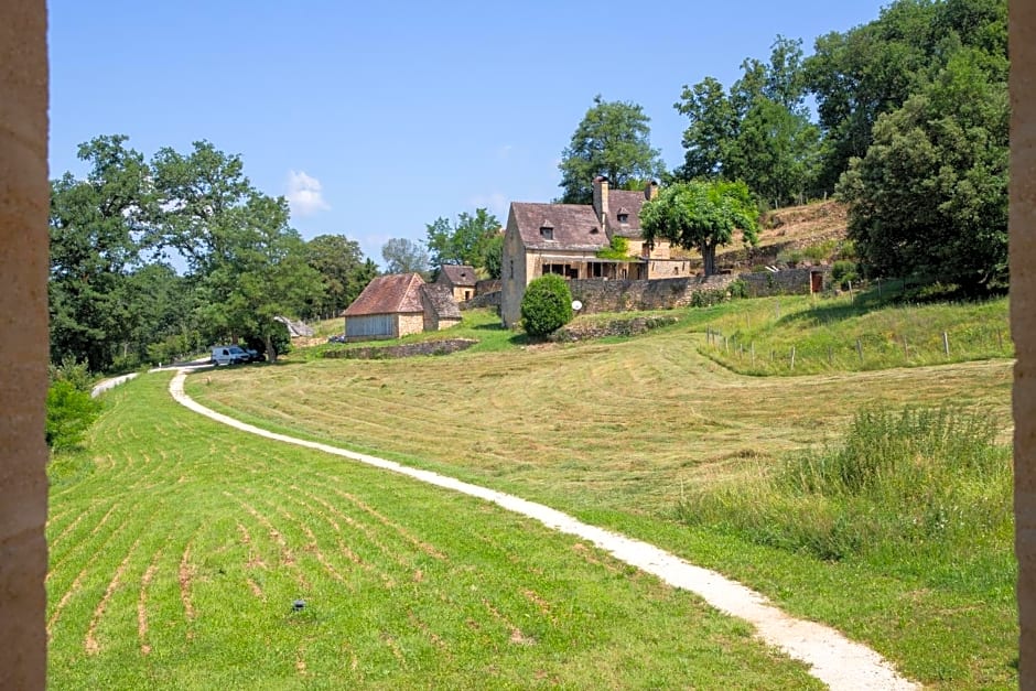
[[[594,180],[592,204],[512,202],[504,234],[500,316],[511,327],[521,318],[526,285],[547,273],[566,279],[650,280],[692,276],[691,262],[672,259],[668,240],[646,242],[640,207],[658,194],[658,183],[643,192],[609,190]],[[598,256],[613,237],[626,239],[626,259]]]

